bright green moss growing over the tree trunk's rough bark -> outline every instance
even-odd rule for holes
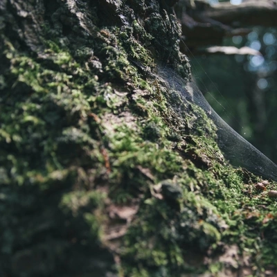
[[[119,276],[217,274],[230,245],[236,262],[249,258],[253,276],[276,267],[276,201],[256,190],[258,177],[224,160],[206,113],[154,75],[161,56],[182,61],[179,29],[170,36],[163,13],[148,18],[148,31],[139,21],[97,30],[91,48],[48,40],[43,61],[6,38],[1,97],[9,86],[14,100],[0,114],[1,251],[28,247],[39,230],[61,232],[69,248],[109,248],[107,207],[136,201],[118,238]],[[163,40],[163,55],[152,51]],[[175,68],[189,79],[183,62]],[[42,222],[17,223],[17,213],[36,208]]]

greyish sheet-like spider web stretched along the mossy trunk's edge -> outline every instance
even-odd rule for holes
[[[276,164],[220,118],[193,81],[187,84],[170,67],[162,65],[157,67],[157,77],[166,82],[168,89],[178,91],[182,100],[204,109],[208,118],[211,118],[217,127],[217,144],[220,150],[233,166],[246,168],[255,175],[277,181]],[[175,109],[178,112],[179,108]]]

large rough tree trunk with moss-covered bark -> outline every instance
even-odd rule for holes
[[[172,3],[1,1],[1,276],[274,276],[276,202],[155,75]]]

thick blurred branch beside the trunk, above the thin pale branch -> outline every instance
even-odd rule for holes
[[[228,2],[211,6],[203,0],[180,0],[176,10],[184,53],[188,53],[187,48],[200,53],[199,48],[220,45],[224,37],[247,35],[251,26],[277,26],[276,0],[249,0],[237,6]]]

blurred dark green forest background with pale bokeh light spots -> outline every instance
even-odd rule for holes
[[[277,28],[247,28],[247,34],[223,37],[221,46],[248,46],[261,55],[201,53],[190,47],[188,56],[197,85],[217,114],[277,163]]]

